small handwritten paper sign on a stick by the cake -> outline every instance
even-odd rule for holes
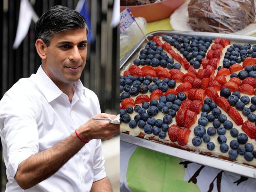
[[[132,12],[130,12],[129,8],[126,8],[125,10],[123,10],[120,13],[120,23],[119,23],[120,33],[119,34],[124,32],[130,25],[132,25],[134,21],[135,21],[135,18]]]

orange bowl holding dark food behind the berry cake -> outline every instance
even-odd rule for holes
[[[144,17],[147,22],[152,22],[170,17],[184,2],[185,0],[164,0],[145,5],[120,6],[120,12],[128,7],[134,17]]]

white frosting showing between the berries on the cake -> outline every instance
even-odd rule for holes
[[[161,38],[161,37],[160,37],[160,38]],[[237,42],[231,41],[231,42],[230,42],[230,45],[231,45],[231,44],[234,44],[234,43],[237,43]],[[214,44],[214,41],[213,41],[212,44]],[[212,46],[212,44],[210,45],[210,47]],[[226,50],[230,47],[230,45],[226,46],[226,47],[222,50],[222,53],[223,53],[223,54],[222,54],[222,57],[220,58],[220,62],[219,62],[219,65],[220,65],[220,66],[222,66],[222,62],[223,62],[223,59],[224,59],[224,56],[225,56],[225,52],[226,52]],[[210,47],[209,47],[209,49],[210,49]],[[179,53],[179,54],[180,54],[180,52],[179,52],[175,47],[172,46],[172,49],[173,49],[176,53]],[[209,49],[208,49],[208,50],[209,50]],[[167,54],[168,54],[169,57],[171,57],[171,55],[170,55],[169,53],[167,53]],[[132,63],[133,60],[134,60],[135,58],[138,58],[138,56],[139,56],[139,52],[138,52],[138,55],[135,55],[132,59],[130,59],[130,62],[131,62],[131,63],[129,63],[128,65],[126,65],[126,67],[125,67],[124,69],[122,69],[121,74],[123,74],[124,70],[128,70],[129,66],[133,64],[133,63]],[[171,58],[172,58],[172,57],[171,57]],[[174,63],[178,63],[178,62],[174,59]],[[241,64],[242,64],[242,63],[241,63]],[[140,65],[139,67],[141,68],[142,66]],[[203,67],[202,67],[202,65],[201,65],[199,69],[202,69],[202,68],[203,68]],[[166,69],[167,69],[167,68],[166,68]],[[198,71],[199,69],[197,69],[197,71]],[[167,70],[168,70],[168,69],[167,69]],[[182,67],[181,67],[181,71],[182,71],[184,74],[187,73],[187,70],[183,69]],[[215,76],[216,76],[217,72],[218,72],[218,70],[215,70],[215,73],[214,73]],[[238,74],[239,71],[236,71],[235,73]],[[230,75],[226,76],[226,80],[229,81],[229,79],[230,79]],[[152,83],[151,83],[151,84],[152,84]],[[181,84],[181,83],[177,82],[175,89],[176,89],[177,86],[180,85],[180,84]],[[217,92],[218,92],[218,94],[220,95],[220,91],[217,91]],[[139,94],[139,95],[142,95],[142,94]],[[148,91],[148,92],[146,93],[146,95],[150,96],[150,92]],[[241,94],[241,96],[242,96],[242,95],[246,95],[246,94]],[[251,98],[251,97],[254,96],[254,95],[252,95],[252,96],[251,96],[251,95],[247,95],[247,96],[249,96],[249,97]],[[131,96],[130,98],[133,98],[134,101],[135,101],[135,98],[136,98],[136,97],[137,97],[137,96]],[[245,105],[245,107],[249,107],[250,105],[251,105],[251,103]],[[218,107],[218,108],[222,111],[222,114],[225,114],[226,117],[228,118],[228,120],[233,123],[233,128],[238,129],[239,133],[244,133],[244,131],[241,129],[242,126],[237,126],[236,123],[233,121],[233,119],[231,119],[231,118],[229,117],[229,115],[228,115],[222,108],[220,108],[220,107]],[[211,113],[211,112],[210,112],[210,113]],[[245,117],[245,116],[242,114],[242,111],[239,111],[239,113],[241,114],[241,117],[243,118],[243,121],[244,121],[244,122],[248,120],[247,117]],[[133,112],[132,114],[130,114],[131,119],[134,119],[134,116],[135,116],[136,114],[138,114],[138,113]],[[162,119],[162,118],[164,117],[164,115],[165,115],[165,114],[163,114],[161,111],[159,111],[159,113],[158,113],[156,116],[154,116],[154,118],[155,118],[155,119]],[[197,121],[198,121],[198,119],[199,119],[200,117],[201,117],[201,113],[199,113],[199,114],[197,115]],[[190,136],[189,136],[189,138],[188,138],[188,143],[187,143],[187,145],[183,146],[183,148],[190,148],[190,149],[192,149],[192,150],[196,150],[196,152],[198,152],[198,153],[201,153],[201,152],[210,152],[210,153],[212,153],[213,156],[216,156],[216,157],[218,157],[219,155],[222,155],[222,156],[225,156],[225,157],[229,157],[228,152],[231,150],[230,146],[229,146],[229,151],[228,151],[228,152],[222,153],[222,152],[220,151],[220,148],[219,148],[219,147],[220,147],[220,144],[218,143],[218,140],[217,140],[217,138],[218,138],[218,136],[219,136],[218,133],[216,133],[216,134],[213,135],[213,136],[210,136],[210,142],[213,142],[213,143],[215,144],[215,148],[214,148],[214,150],[212,150],[212,151],[210,151],[210,150],[207,149],[207,143],[202,142],[202,144],[199,145],[199,146],[197,146],[197,147],[192,144],[192,139],[193,139],[193,137],[195,137],[193,131],[194,131],[194,128],[198,125],[197,121],[196,121],[195,124],[193,124],[193,125],[190,127],[191,133],[190,133]],[[171,126],[172,124],[176,124],[175,118],[172,118],[172,123],[171,123],[169,126]],[[223,126],[223,124],[221,124],[221,126]],[[207,124],[206,130],[207,130],[208,127],[213,127],[212,122],[209,122],[209,123]],[[142,132],[143,134],[145,134],[145,133],[144,133],[144,130],[141,129],[141,128],[139,128],[138,126],[132,129],[132,128],[129,128],[128,123],[127,123],[127,124],[126,124],[126,123],[121,123],[121,125],[120,125],[120,132],[126,132],[126,131],[129,131],[129,134],[130,134],[130,135],[133,135],[133,136],[138,136],[140,132]],[[217,131],[217,130],[216,130],[216,131]],[[167,132],[166,132],[166,137],[165,137],[164,139],[160,139],[158,136],[155,136],[155,135],[153,135],[153,134],[145,134],[145,137],[144,137],[144,138],[145,138],[145,139],[149,139],[150,137],[155,137],[156,140],[160,140],[161,142],[164,142],[164,143],[172,143],[172,142],[170,141],[169,137],[168,137]],[[236,140],[236,138],[231,137],[231,135],[230,135],[230,130],[226,130],[225,137],[227,138],[226,144],[228,144],[228,145],[229,145],[229,143],[231,142],[231,140],[234,140],[234,139]],[[175,143],[177,143],[177,142],[175,142]],[[248,137],[248,142],[247,142],[247,143],[252,143],[252,144],[254,145],[254,150],[256,150],[256,140],[255,140],[255,139],[250,139],[250,138]],[[177,144],[177,145],[178,145],[178,144]],[[244,146],[244,145],[243,145],[243,144],[240,144],[240,146]],[[255,165],[255,166],[256,166],[256,158],[254,158],[252,161],[249,162],[249,161],[246,161],[246,160],[244,159],[244,156],[243,156],[243,155],[238,155],[238,157],[236,158],[235,162],[238,162],[238,163],[247,163],[247,164]]]

